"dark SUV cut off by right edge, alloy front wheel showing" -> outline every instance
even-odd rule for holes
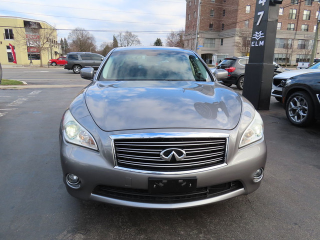
[[[320,119],[320,72],[305,72],[287,79],[282,88],[282,103],[288,120],[307,126]]]

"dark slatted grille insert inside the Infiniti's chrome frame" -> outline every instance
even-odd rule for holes
[[[112,137],[111,137],[112,138]],[[114,156],[119,167],[146,171],[185,171],[225,162],[227,137],[142,137],[114,138]],[[185,151],[185,157],[163,160],[163,150]],[[168,155],[168,154],[167,154]]]

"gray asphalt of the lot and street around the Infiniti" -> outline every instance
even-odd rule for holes
[[[4,68],[3,78],[81,81],[60,70]],[[65,190],[58,146],[61,115],[81,88],[0,89],[0,239],[320,239],[319,122],[294,127],[271,99],[260,111],[265,177],[249,195],[178,210],[84,202]]]

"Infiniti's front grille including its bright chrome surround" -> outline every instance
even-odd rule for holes
[[[226,165],[228,133],[132,133],[109,137],[117,169],[152,174],[184,174]],[[178,141],[167,138],[176,138]],[[130,140],[125,141],[125,139]],[[135,142],[134,139],[136,139]],[[148,149],[141,149],[145,147]],[[160,152],[172,147],[181,147],[185,150],[186,157],[180,161],[162,160]]]

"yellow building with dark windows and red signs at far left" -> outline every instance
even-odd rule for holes
[[[47,65],[59,57],[56,29],[45,21],[0,16],[0,62],[2,65]],[[13,46],[16,63],[10,44]]]

